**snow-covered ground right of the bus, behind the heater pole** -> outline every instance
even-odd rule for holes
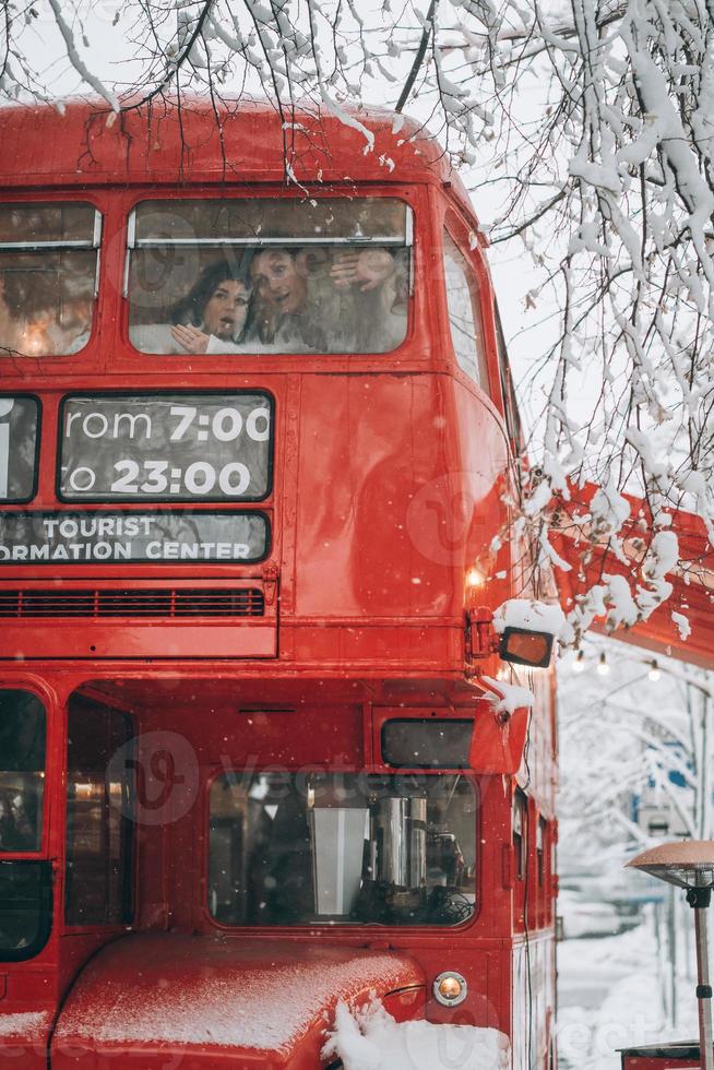
[[[682,952],[688,935],[693,944],[693,930],[685,929]],[[673,1027],[666,1009],[667,963],[658,953],[651,910],[638,928],[619,936],[563,940],[558,946],[561,1070],[619,1070],[618,1048],[695,1037],[694,982],[687,976],[691,955],[680,958],[678,1024]]]

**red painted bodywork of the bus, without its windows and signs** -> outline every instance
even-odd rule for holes
[[[60,400],[73,391],[260,389],[274,399],[276,414],[273,491],[260,503],[273,533],[266,561],[197,564],[189,571],[169,563],[0,570],[0,593],[51,586],[61,596],[103,586],[237,584],[260,588],[266,602],[258,622],[138,616],[2,621],[0,686],[35,691],[48,711],[40,857],[52,860],[56,880],[45,949],[25,963],[0,963],[0,1068],[46,1067],[52,1030],[52,1070],[160,1066],[172,1042],[158,1033],[141,1051],[118,1036],[109,1047],[82,1047],[90,1034],[91,1043],[97,1039],[93,1023],[115,1013],[107,994],[126,991],[141,1004],[158,998],[152,994],[165,979],[160,999],[174,1012],[206,971],[228,978],[234,992],[248,990],[255,962],[263,977],[267,964],[276,963],[281,984],[284,971],[299,976],[305,963],[312,977],[319,964],[334,971],[334,985],[321,992],[320,1012],[305,1019],[300,1042],[257,1055],[240,1042],[218,1051],[206,1039],[192,1045],[190,1055],[181,1049],[189,1060],[181,1067],[317,1068],[323,1065],[319,1030],[329,1024],[322,1012],[329,1019],[336,998],[359,1000],[366,992],[367,980],[349,980],[350,964],[385,955],[389,982],[377,976],[376,965],[370,985],[397,1015],[517,1033],[517,1050],[529,1046],[534,1065],[545,1068],[555,1006],[552,680],[540,674],[531,681],[537,702],[526,776],[520,762],[523,716],[512,732],[497,724],[478,685],[479,674],[496,677],[502,663],[466,628],[469,610],[493,609],[522,593],[520,578],[527,571],[520,547],[510,544],[504,492],[513,483],[511,437],[477,221],[441,150],[415,124],[407,121],[393,132],[392,116],[364,116],[376,136],[374,151],[366,154],[358,131],[305,117],[305,131],[294,133],[291,164],[311,192],[401,197],[414,210],[416,275],[403,345],[380,355],[142,356],[129,344],[121,296],[128,211],[146,197],[301,195],[283,182],[283,139],[273,112],[240,106],[223,118],[222,141],[215,116],[192,105],[180,129],[170,105],[110,124],[102,109],[79,105],[62,117],[49,108],[0,116],[2,200],[76,198],[104,215],[99,296],[86,348],[73,357],[0,365],[2,392],[29,391],[43,404],[32,508],[67,508],[56,497],[56,442]],[[460,370],[451,345],[441,268],[444,221],[463,241],[480,283],[488,395]],[[127,711],[140,740],[148,733],[175,733],[194,756],[197,788],[188,810],[176,820],[136,827],[131,935],[122,926],[69,926],[63,917],[67,706],[78,693]],[[454,928],[228,929],[215,923],[205,895],[212,780],[225,769],[275,765],[385,772],[379,725],[385,711],[404,709],[476,722],[469,774],[480,799],[475,916]],[[519,783],[527,789],[529,881],[517,876],[512,842]],[[536,880],[539,818],[548,836]],[[524,959],[519,949],[526,940],[531,955]],[[189,956],[189,948],[197,953]],[[527,985],[526,960],[538,970]],[[459,1008],[441,1007],[431,996],[433,978],[444,970],[468,980],[468,997]],[[536,1029],[526,1006],[532,991],[540,994]],[[274,1014],[273,996],[282,998],[271,992],[266,1022]],[[15,1018],[23,1014],[45,1016]],[[81,1049],[74,1050],[74,1042]]]

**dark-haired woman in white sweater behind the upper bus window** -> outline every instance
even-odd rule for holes
[[[144,353],[235,353],[249,328],[251,287],[247,270],[209,264],[169,312],[170,323],[131,330]]]

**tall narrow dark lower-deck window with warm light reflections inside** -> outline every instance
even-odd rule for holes
[[[67,750],[68,925],[124,925],[132,916],[133,783],[129,717],[70,702]]]

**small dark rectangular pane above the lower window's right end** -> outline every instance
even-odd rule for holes
[[[404,769],[466,769],[473,721],[388,721],[382,760]]]

